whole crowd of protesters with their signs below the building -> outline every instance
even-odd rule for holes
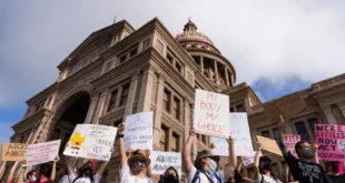
[[[152,112],[141,112],[127,116],[117,128],[78,124],[68,143],[62,145],[60,140],[3,143],[1,161],[13,162],[6,183],[100,183],[105,182],[102,174],[107,166],[119,166],[120,183],[152,183],[154,176],[159,176],[159,183],[345,183],[341,171],[345,164],[336,161],[341,160],[337,157],[342,154],[336,152],[342,143],[332,139],[344,135],[345,126],[316,124],[317,143],[310,144],[297,134],[285,134],[280,115],[277,138],[256,136],[258,143],[253,146],[247,114],[229,113],[228,106],[217,105],[217,100],[229,105],[227,95],[201,90],[197,90],[196,95],[196,103],[204,104],[195,109],[198,115],[191,129],[187,129],[189,136],[181,152],[154,151]],[[215,108],[211,103],[207,105],[207,100],[213,101]],[[335,130],[338,133],[332,133]],[[213,143],[194,155],[197,133],[211,136]],[[285,159],[282,180],[272,169],[272,159],[263,155],[263,151]],[[115,152],[119,164],[108,164]],[[57,179],[60,159],[65,166],[59,172],[63,175]],[[254,177],[240,173],[248,164],[254,164]]]

